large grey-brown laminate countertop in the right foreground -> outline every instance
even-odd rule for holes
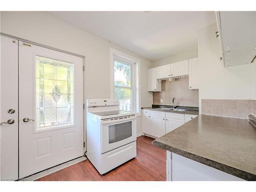
[[[199,115],[152,143],[236,177],[256,180],[256,129],[248,119]]]

